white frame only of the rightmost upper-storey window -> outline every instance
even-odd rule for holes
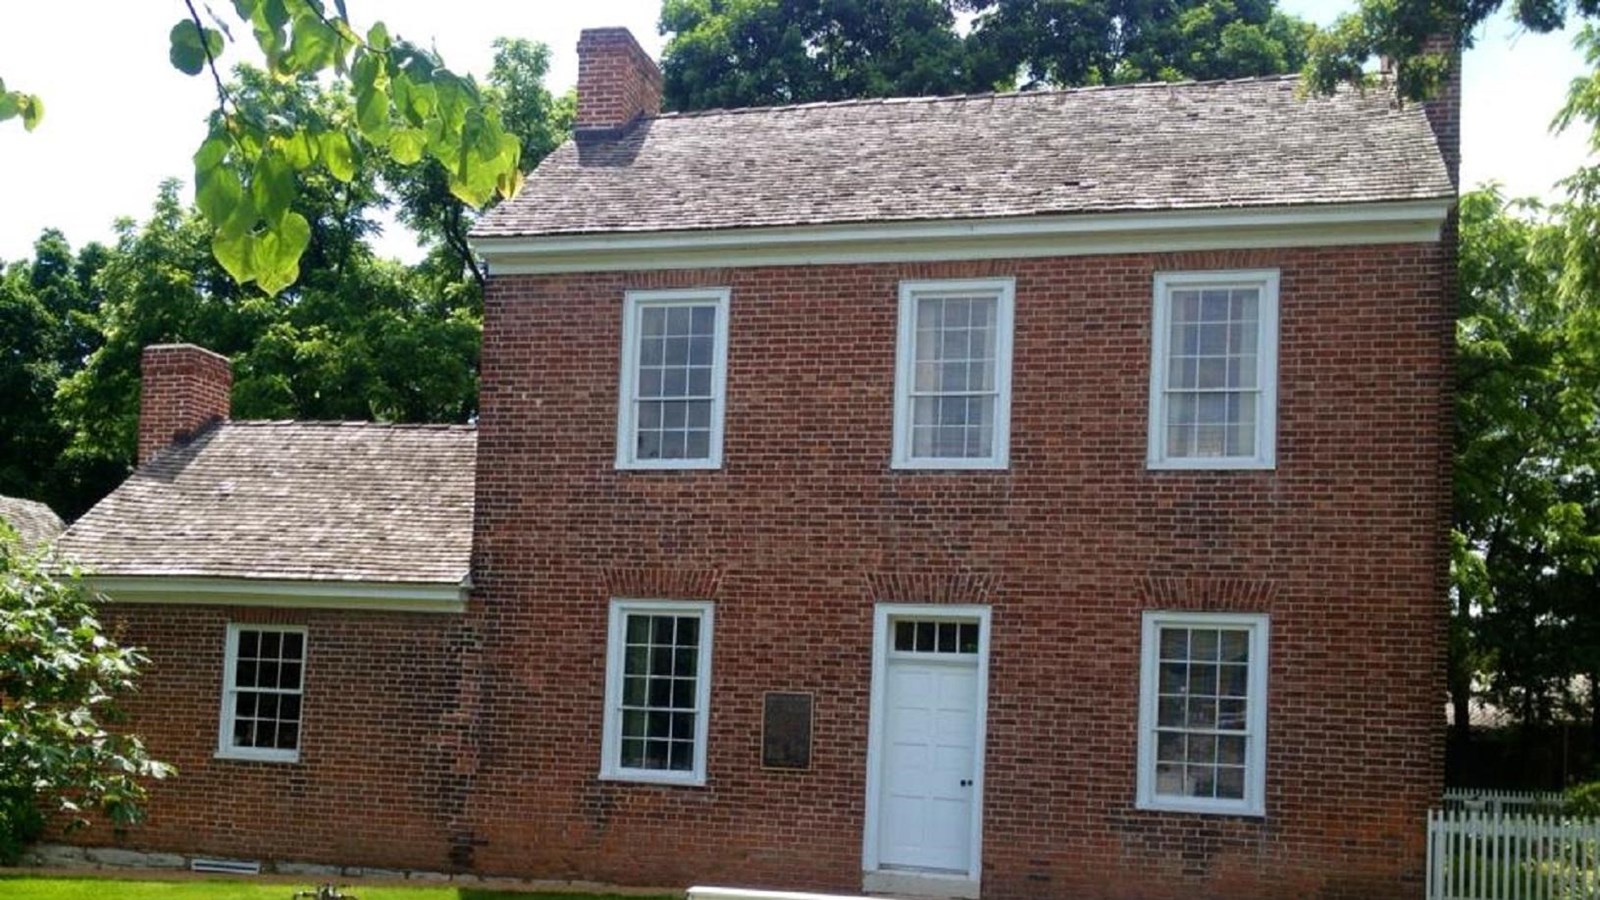
[[[1171,333],[1171,293],[1186,288],[1258,288],[1256,333],[1256,452],[1245,456],[1166,455],[1166,370]],[[1278,271],[1232,269],[1210,272],[1157,272],[1150,328],[1150,428],[1147,464],[1152,469],[1272,469],[1277,468],[1278,421]]]

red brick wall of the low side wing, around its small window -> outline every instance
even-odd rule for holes
[[[155,783],[150,817],[85,844],[450,868],[456,762],[469,733],[456,689],[462,620],[451,615],[123,605],[107,625],[150,665],[123,708],[150,754],[178,767]],[[216,759],[227,623],[304,625],[299,762]]]

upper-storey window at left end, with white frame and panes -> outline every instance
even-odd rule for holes
[[[728,290],[629,291],[622,315],[618,468],[720,468]]]

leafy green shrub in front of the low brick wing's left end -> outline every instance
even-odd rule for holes
[[[0,524],[0,863],[16,862],[45,822],[101,810],[142,817],[146,781],[171,767],[133,735],[107,729],[144,657],[110,641],[74,573],[56,577]]]

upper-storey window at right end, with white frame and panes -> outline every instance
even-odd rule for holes
[[[1270,469],[1278,274],[1155,275],[1152,468]]]

